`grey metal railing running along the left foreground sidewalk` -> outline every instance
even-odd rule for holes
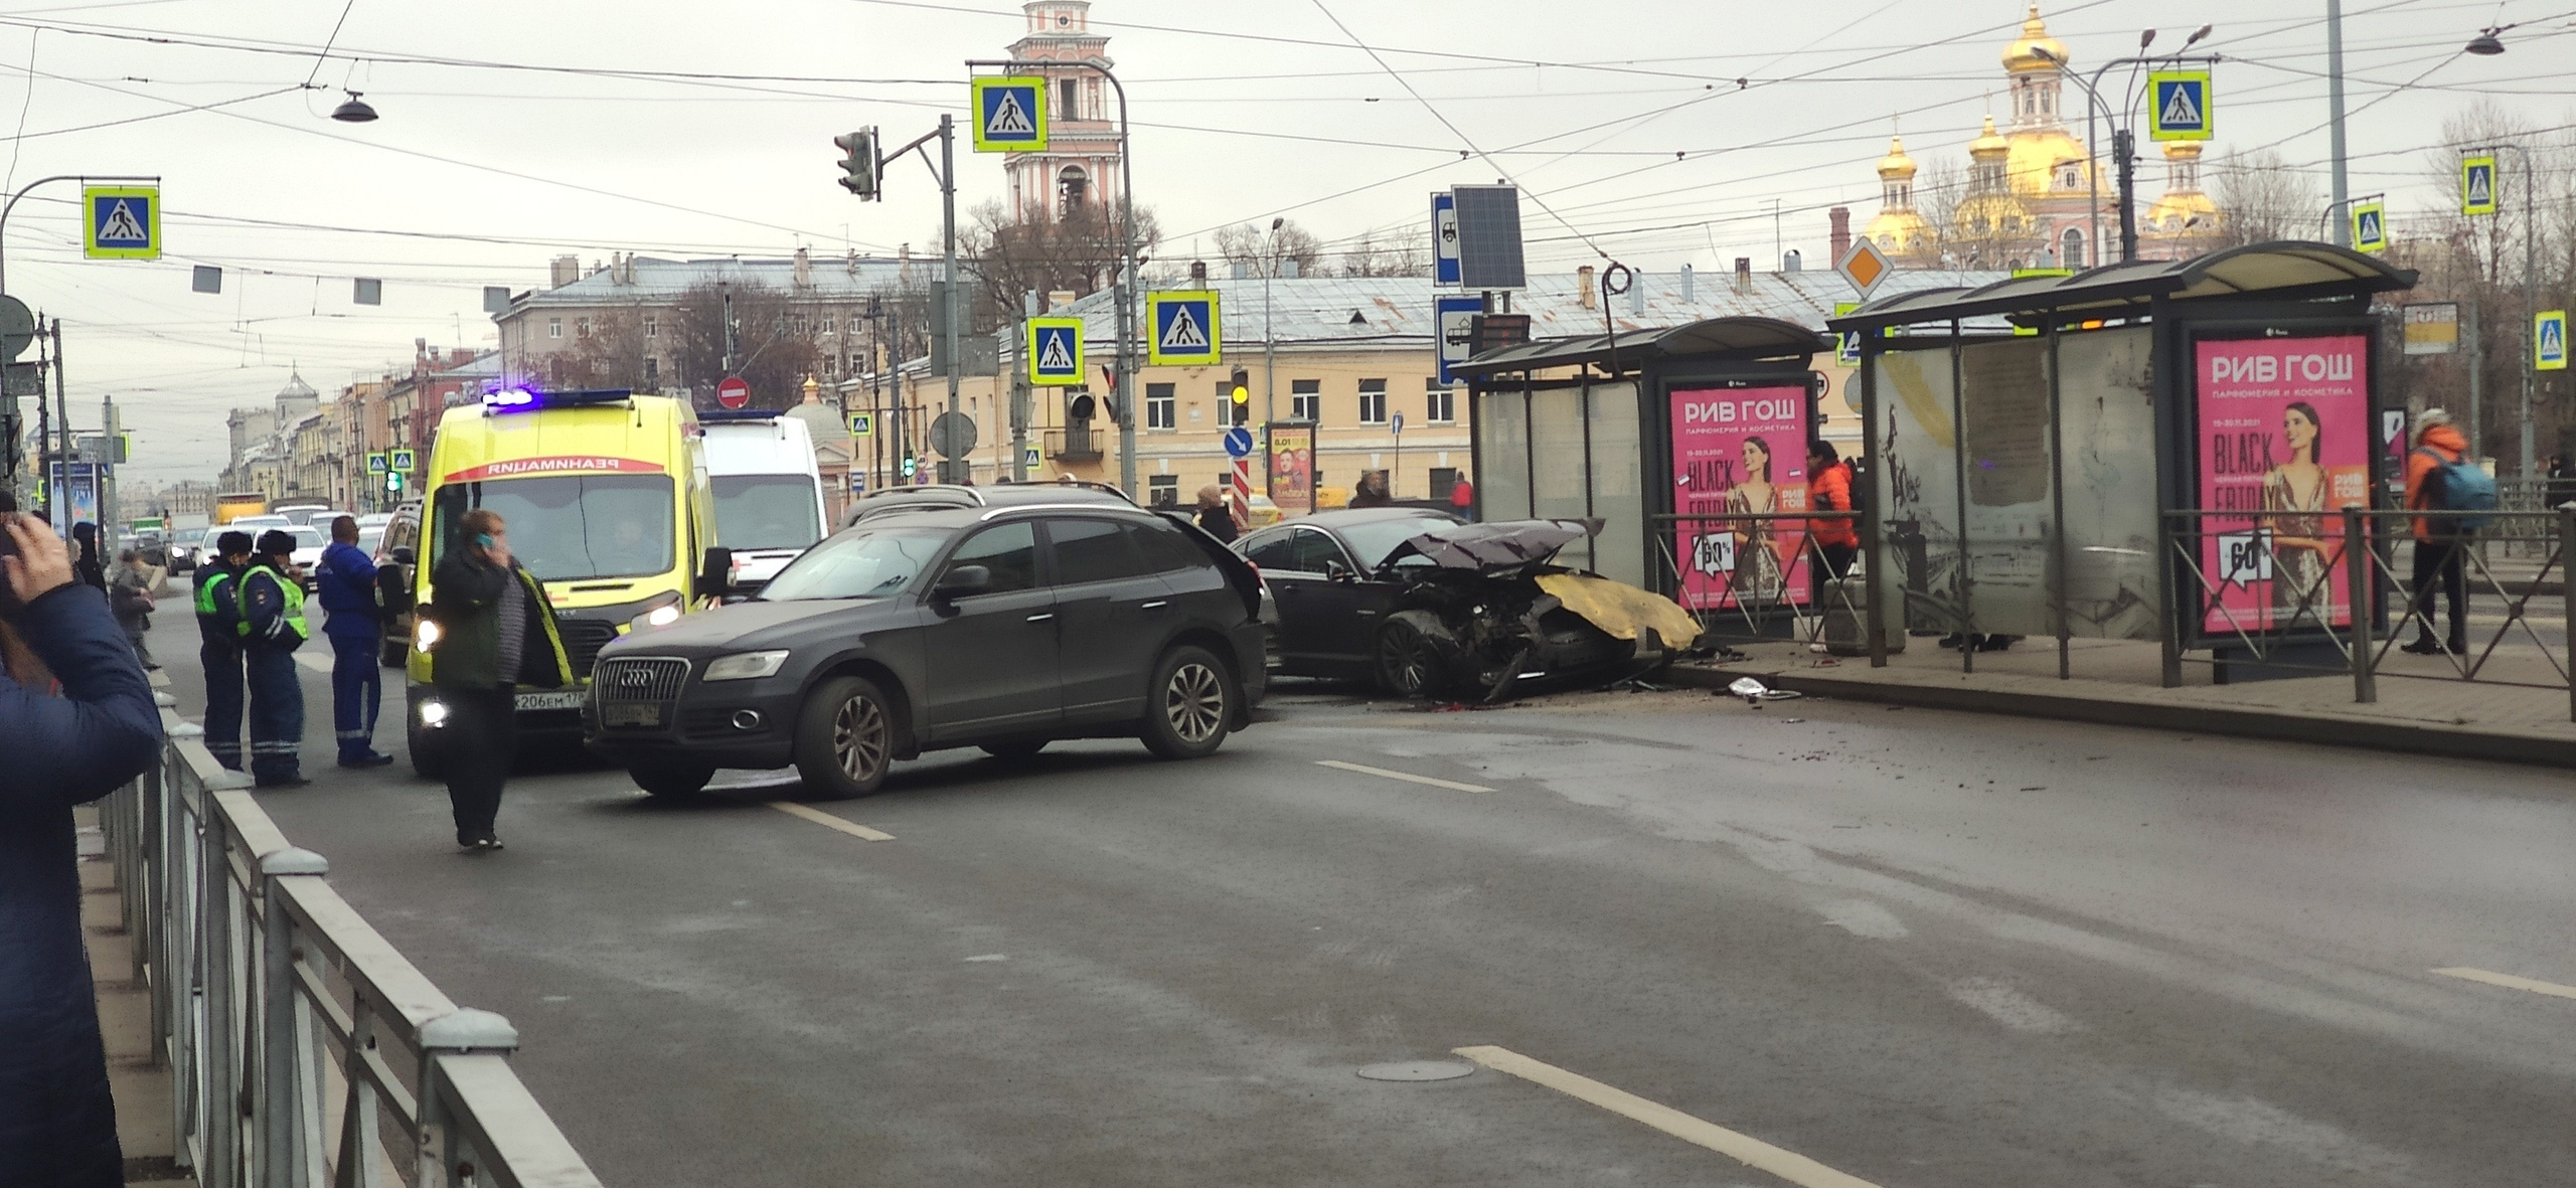
[[[162,696],[167,706],[167,696]],[[162,760],[100,801],[178,1162],[204,1188],[598,1188],[451,1002],[286,843],[167,709]]]

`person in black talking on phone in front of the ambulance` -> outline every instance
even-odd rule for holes
[[[546,588],[510,557],[510,526],[489,508],[456,521],[456,546],[430,572],[422,613],[438,624],[430,685],[446,719],[433,727],[446,750],[456,845],[500,850],[495,819],[518,742],[518,685],[572,683],[564,637]]]

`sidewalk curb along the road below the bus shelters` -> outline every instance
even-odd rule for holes
[[[2249,709],[2192,706],[2172,701],[2115,701],[2084,696],[2043,696],[1999,688],[1932,688],[1886,680],[1847,680],[1814,673],[1765,673],[1744,667],[1674,667],[1672,683],[1726,688],[1734,678],[1759,678],[1772,688],[1844,701],[1875,701],[1914,709],[1960,709],[1971,714],[2012,714],[2099,727],[2177,729],[2192,734],[2231,734],[2280,742],[2318,742],[2329,747],[2396,750],[2406,755],[2445,755],[2499,763],[2537,763],[2576,768],[2576,740],[2486,732],[2473,727],[2434,727],[2385,719],[2342,719],[2318,714],[2267,714]]]

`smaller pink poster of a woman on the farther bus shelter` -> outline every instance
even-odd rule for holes
[[[1672,392],[1674,557],[1690,611],[1806,603],[1806,387]]]

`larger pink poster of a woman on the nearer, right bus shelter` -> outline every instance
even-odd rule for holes
[[[2202,631],[2349,626],[2344,508],[2370,505],[2370,340],[2200,340]]]

